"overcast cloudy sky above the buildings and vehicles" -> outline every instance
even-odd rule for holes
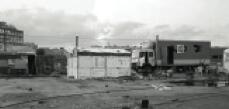
[[[0,20],[39,46],[211,40],[229,46],[228,0],[0,0]]]

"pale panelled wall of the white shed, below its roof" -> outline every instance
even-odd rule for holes
[[[77,79],[130,75],[130,56],[78,56],[68,59],[68,76]],[[77,73],[76,73],[77,72]]]

